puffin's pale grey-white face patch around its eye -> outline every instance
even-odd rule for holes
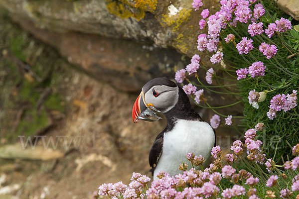
[[[158,94],[157,97],[153,95],[153,90]],[[145,93],[145,101],[165,113],[173,108],[178,101],[178,87],[155,85]]]

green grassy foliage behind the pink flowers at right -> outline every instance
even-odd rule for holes
[[[281,11],[278,10],[275,2],[270,0],[263,1],[265,8],[268,10],[262,17],[262,22],[266,28],[269,23],[274,22],[281,17],[286,17]],[[286,17],[288,18],[288,17]],[[298,23],[293,21],[294,23]],[[238,43],[242,37],[250,38],[250,34],[247,32],[247,24],[238,23],[235,28],[227,28],[221,33],[222,38],[227,34],[233,33],[236,36],[236,43]],[[264,142],[264,151],[266,155],[271,157],[275,156],[276,161],[281,160],[281,156],[284,158],[287,155],[291,155],[291,146],[299,143],[299,107],[284,112],[278,111],[277,117],[270,120],[267,116],[269,110],[270,100],[272,97],[278,94],[291,94],[293,90],[298,90],[299,81],[299,28],[298,25],[293,26],[291,31],[275,35],[269,39],[265,34],[255,35],[251,37],[254,40],[255,49],[247,55],[238,55],[238,51],[232,43],[222,42],[224,60],[236,69],[248,68],[251,63],[256,61],[264,62],[267,66],[265,76],[263,77],[247,77],[244,80],[238,81],[238,88],[240,91],[241,99],[244,102],[244,116],[243,124],[248,128],[253,128],[258,122],[265,124],[265,131],[258,132],[258,139]],[[268,44],[275,44],[278,48],[278,52],[275,57],[267,59],[259,51],[259,45],[261,42]],[[248,103],[248,93],[251,90],[257,92],[271,91],[267,93],[267,98],[263,102],[259,102],[259,109],[254,108]]]

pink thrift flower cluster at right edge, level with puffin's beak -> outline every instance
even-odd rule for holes
[[[292,94],[278,94],[270,100],[270,109],[267,112],[269,119],[276,117],[276,112],[284,110],[285,112],[295,108],[297,106],[297,91],[293,90]]]

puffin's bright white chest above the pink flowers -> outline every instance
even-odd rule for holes
[[[178,120],[174,128],[164,134],[163,151],[154,171],[154,179],[159,171],[171,176],[180,173],[178,167],[183,162],[190,168],[191,164],[186,159],[189,152],[202,155],[208,163],[214,143],[214,131],[207,122]]]

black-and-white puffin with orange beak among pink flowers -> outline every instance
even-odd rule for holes
[[[156,112],[165,115],[167,125],[156,136],[149,152],[153,180],[159,172],[170,176],[181,173],[181,163],[190,169],[186,159],[189,152],[203,156],[206,167],[216,143],[215,131],[195,111],[182,88],[166,78],[155,78],[144,85],[133,105],[133,121],[156,121],[161,118]]]

